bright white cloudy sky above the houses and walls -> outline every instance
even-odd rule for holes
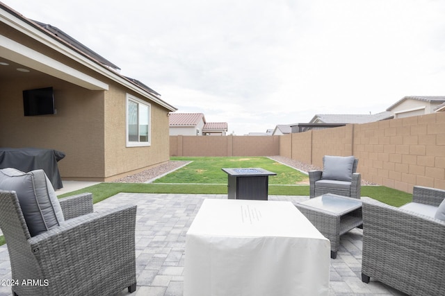
[[[229,132],[445,95],[441,0],[2,0]]]

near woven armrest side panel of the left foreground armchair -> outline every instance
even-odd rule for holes
[[[29,238],[42,274],[54,281],[51,293],[65,295],[70,289],[75,295],[106,295],[122,288],[114,282],[135,284],[135,225],[136,206],[122,206],[67,220]]]

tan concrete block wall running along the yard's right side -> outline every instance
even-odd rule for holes
[[[416,185],[445,189],[445,112],[291,137],[292,158],[301,162],[323,168],[324,155],[354,155],[364,180],[409,193]],[[311,162],[303,147],[312,149]]]

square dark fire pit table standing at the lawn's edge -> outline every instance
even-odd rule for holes
[[[227,173],[227,196],[235,200],[268,200],[270,175],[263,168],[222,168]]]

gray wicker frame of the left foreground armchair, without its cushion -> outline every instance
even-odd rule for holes
[[[115,295],[136,290],[136,206],[92,212],[92,195],[60,199],[65,222],[31,236],[15,191],[0,190],[13,295]]]

